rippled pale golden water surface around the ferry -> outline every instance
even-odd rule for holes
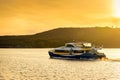
[[[120,80],[120,49],[108,60],[50,59],[50,49],[0,49],[0,80]]]

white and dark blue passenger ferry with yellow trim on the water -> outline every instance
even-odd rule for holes
[[[98,52],[100,48],[92,46],[91,43],[73,42],[66,43],[65,46],[48,51],[50,58],[67,59],[98,59],[105,58],[104,53]]]

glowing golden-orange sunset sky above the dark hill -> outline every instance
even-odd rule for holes
[[[120,0],[0,0],[0,35],[118,25]]]

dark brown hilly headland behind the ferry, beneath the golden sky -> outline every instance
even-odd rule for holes
[[[34,35],[0,36],[0,47],[50,48],[62,46],[73,40],[120,48],[120,28],[57,28]]]

